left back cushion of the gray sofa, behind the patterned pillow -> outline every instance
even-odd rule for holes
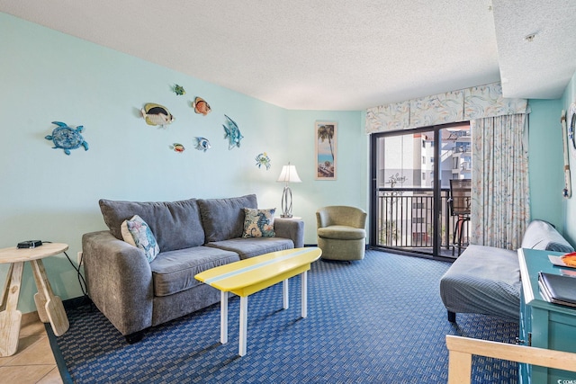
[[[202,246],[204,231],[196,199],[170,202],[100,200],[103,219],[120,240],[121,224],[138,215],[148,223],[160,252]]]

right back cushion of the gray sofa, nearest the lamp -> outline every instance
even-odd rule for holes
[[[257,208],[255,194],[228,199],[199,199],[198,206],[206,236],[205,243],[241,237],[244,209]]]

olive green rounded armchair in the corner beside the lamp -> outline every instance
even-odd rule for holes
[[[362,260],[365,253],[366,212],[347,206],[316,211],[318,246],[322,259]]]

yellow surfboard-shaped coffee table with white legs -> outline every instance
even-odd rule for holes
[[[308,316],[308,275],[311,263],[322,255],[317,247],[287,249],[251,257],[198,273],[196,280],[220,290],[220,343],[228,343],[228,292],[240,297],[240,335],[238,354],[246,354],[248,296],[280,281],[283,283],[284,309],[288,308],[288,279],[301,275],[302,317]]]

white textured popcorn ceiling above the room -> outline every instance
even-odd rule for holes
[[[573,0],[0,0],[0,12],[287,109],[363,110],[500,76],[505,96],[557,98],[576,70]]]

